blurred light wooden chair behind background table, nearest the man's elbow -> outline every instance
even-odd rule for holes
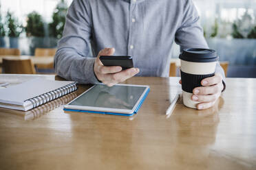
[[[57,49],[41,49],[36,48],[34,51],[35,57],[45,57],[50,56],[54,57]],[[53,69],[53,63],[52,64],[36,64],[37,69]]]

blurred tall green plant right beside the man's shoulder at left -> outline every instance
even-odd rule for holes
[[[61,38],[65,25],[65,16],[67,14],[67,3],[61,0],[54,14],[52,15],[52,23],[49,24],[49,34],[54,38]]]

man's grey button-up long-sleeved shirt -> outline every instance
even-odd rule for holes
[[[115,55],[133,57],[138,76],[168,77],[174,40],[181,49],[208,48],[198,20],[191,0],[74,0],[55,71],[67,80],[95,84],[95,57],[114,47]],[[224,77],[220,64],[216,71]]]

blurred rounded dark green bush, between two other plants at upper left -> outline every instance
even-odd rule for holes
[[[31,12],[28,14],[27,26],[25,27],[25,32],[27,36],[45,36],[45,30],[43,27],[43,19],[37,12]]]

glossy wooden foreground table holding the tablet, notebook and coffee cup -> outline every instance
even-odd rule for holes
[[[0,83],[36,76],[0,75]],[[61,105],[89,86],[27,117],[2,108],[0,169],[256,169],[256,80],[227,79],[213,108],[198,111],[180,100],[167,117],[170,96],[180,91],[178,80],[133,77],[125,82],[151,87],[131,118],[63,112]]]

